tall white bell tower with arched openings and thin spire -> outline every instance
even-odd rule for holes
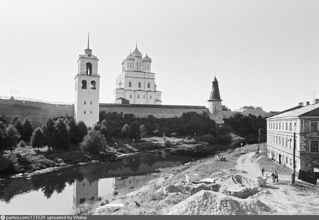
[[[84,121],[87,126],[93,126],[99,121],[100,75],[98,74],[99,59],[92,55],[89,48],[84,55],[79,55],[78,74],[75,76],[74,119]]]

